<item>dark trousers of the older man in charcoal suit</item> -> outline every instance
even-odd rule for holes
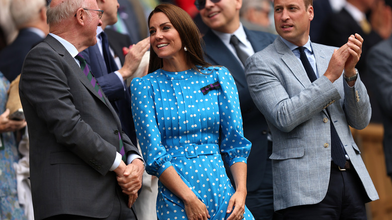
[[[116,196],[112,213],[107,218],[94,218],[72,214],[60,214],[45,218],[44,220],[137,220],[133,208],[128,208],[128,196],[123,194],[120,186],[116,187]]]

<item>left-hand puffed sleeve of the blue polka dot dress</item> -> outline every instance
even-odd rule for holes
[[[172,164],[171,156],[161,144],[153,88],[149,80],[134,78],[131,82],[131,92],[132,115],[143,159],[146,161],[146,171],[159,177]]]

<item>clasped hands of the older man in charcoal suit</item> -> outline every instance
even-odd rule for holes
[[[142,187],[143,162],[140,159],[135,159],[132,163],[125,165],[124,161],[121,161],[120,166],[114,171],[123,193],[128,195],[128,207],[131,208],[138,197],[139,189]]]

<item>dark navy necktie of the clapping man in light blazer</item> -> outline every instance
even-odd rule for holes
[[[306,56],[305,47],[298,47],[298,50],[300,51],[300,60],[302,62],[302,65],[304,65],[305,71],[308,74],[309,79],[311,80],[311,82],[315,81],[317,77],[312,65],[308,60],[308,57]],[[331,115],[329,114],[328,108],[326,108],[326,111],[331,123],[331,157],[336,165],[343,168],[346,164],[346,156],[342,148],[342,142],[340,141],[335,126],[331,121]]]

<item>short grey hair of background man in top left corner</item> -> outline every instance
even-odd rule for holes
[[[10,2],[10,14],[18,29],[35,21],[40,10],[46,6],[46,0],[12,0]]]

